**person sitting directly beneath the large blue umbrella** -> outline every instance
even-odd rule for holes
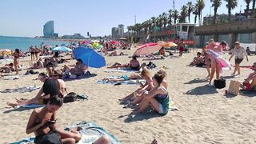
[[[75,74],[75,75],[79,76],[79,75],[86,74],[87,68],[88,67],[85,64],[83,64],[82,59],[78,58],[76,66],[70,67],[70,66],[65,65],[64,69],[63,69],[63,72],[64,73],[71,73],[71,74]]]

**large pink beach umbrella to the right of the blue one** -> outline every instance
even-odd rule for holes
[[[158,43],[147,43],[145,45],[140,46],[134,53],[134,55],[146,55],[152,54],[154,52],[162,49],[162,46],[158,45]]]

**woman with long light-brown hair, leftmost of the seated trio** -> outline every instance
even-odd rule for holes
[[[145,90],[152,89],[153,83],[152,83],[152,76],[151,76],[150,70],[148,70],[146,67],[143,67],[141,75],[142,75],[142,78],[146,80],[146,83],[144,85],[141,84],[138,90],[135,90],[133,93],[129,94],[125,98],[119,99],[120,102],[133,101],[134,98],[142,94]]]

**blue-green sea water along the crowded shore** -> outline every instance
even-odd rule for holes
[[[6,37],[6,36],[0,36],[0,50],[1,49],[20,49],[22,51],[28,51],[29,46],[38,46],[40,47],[41,43],[44,43],[44,45],[50,45],[50,46],[60,46],[62,44],[69,45],[68,42],[62,42],[62,41],[54,41],[52,39],[46,39],[46,38],[24,38],[24,37]]]

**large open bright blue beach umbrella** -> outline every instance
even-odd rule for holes
[[[87,66],[95,68],[106,66],[105,58],[94,49],[79,46],[73,53],[76,59],[82,59],[82,62]]]

